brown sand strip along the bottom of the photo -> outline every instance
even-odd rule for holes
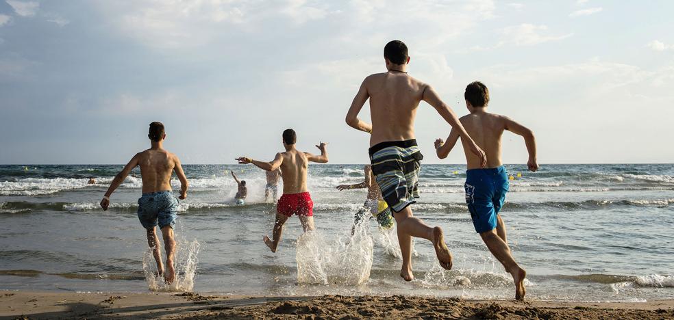
[[[434,297],[247,297],[0,291],[0,319],[672,319],[674,300],[515,302]]]

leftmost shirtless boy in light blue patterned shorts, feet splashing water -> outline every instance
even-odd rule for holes
[[[188,181],[180,165],[180,159],[173,153],[166,151],[162,144],[166,139],[164,124],[152,122],[149,134],[151,147],[137,153],[129,163],[119,172],[110,188],[105,192],[101,207],[108,210],[110,196],[121,185],[129,172],[140,166],[142,175],[142,196],[138,199],[138,219],[147,231],[147,244],[152,248],[152,254],[157,261],[157,270],[160,276],[164,276],[166,283],[171,284],[175,280],[175,240],[173,239],[173,225],[177,219],[178,200],[171,190],[171,174],[175,172],[180,181],[179,199],[187,198]],[[155,232],[155,226],[159,225],[164,237],[166,249],[166,271],[162,264],[162,253],[159,247],[159,237]]]

